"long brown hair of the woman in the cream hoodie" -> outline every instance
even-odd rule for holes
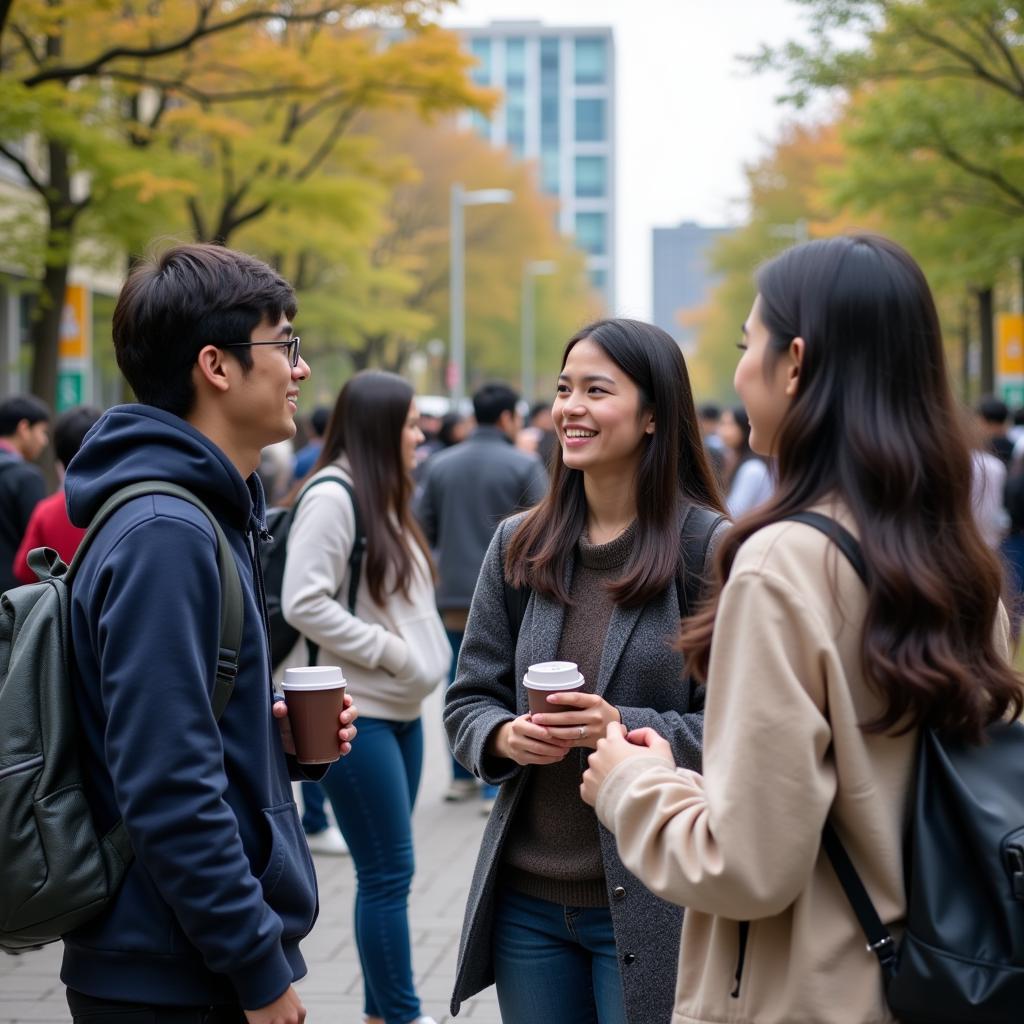
[[[401,431],[412,401],[413,388],[396,374],[356,374],[338,395],[313,467],[316,472],[341,455],[348,458],[367,534],[364,572],[370,596],[379,605],[399,591],[409,597],[414,543],[432,565],[426,538],[410,509],[413,480],[401,459]]]

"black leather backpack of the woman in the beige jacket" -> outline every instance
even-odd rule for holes
[[[826,534],[865,583],[860,545],[834,519],[787,516]],[[1024,724],[984,745],[923,729],[905,848],[906,931],[897,947],[830,822],[822,845],[904,1024],[1024,1019]]]

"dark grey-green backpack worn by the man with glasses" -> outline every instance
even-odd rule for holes
[[[0,949],[7,952],[53,942],[97,914],[134,856],[124,822],[96,834],[85,798],[70,671],[70,595],[82,558],[111,515],[157,494],[190,502],[217,535],[220,652],[212,701],[218,720],[231,696],[242,645],[242,584],[220,524],[190,492],[160,480],[132,484],[99,509],[70,566],[51,548],[30,553],[40,582],[0,596]]]

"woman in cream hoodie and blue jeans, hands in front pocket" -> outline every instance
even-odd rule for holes
[[[355,862],[355,940],[368,1024],[432,1024],[413,981],[409,890],[413,805],[423,763],[420,706],[447,676],[452,649],[434,603],[427,543],[410,511],[423,441],[413,389],[378,371],[342,388],[288,539],[285,617],[341,666],[361,700],[358,751],[331,767],[327,791]],[[366,538],[355,610],[352,486]]]

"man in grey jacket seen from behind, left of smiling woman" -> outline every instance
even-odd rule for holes
[[[425,463],[416,515],[437,556],[437,607],[452,644],[450,685],[455,682],[469,603],[495,527],[514,512],[531,508],[547,489],[540,459],[514,444],[520,427],[518,400],[507,385],[485,384],[473,395],[476,429],[468,440]],[[485,812],[497,792],[484,786]],[[453,758],[452,784],[444,799],[458,803],[475,794],[476,779]]]

